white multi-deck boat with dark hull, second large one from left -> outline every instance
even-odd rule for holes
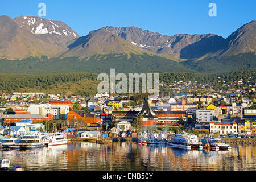
[[[46,147],[43,140],[46,137],[44,133],[26,134],[19,142],[20,149],[42,148]]]

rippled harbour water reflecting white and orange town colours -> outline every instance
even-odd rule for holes
[[[127,142],[71,142],[35,150],[0,151],[0,159],[7,158],[11,166],[26,170],[255,170],[255,155],[256,146],[187,151]]]

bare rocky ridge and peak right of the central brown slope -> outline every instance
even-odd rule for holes
[[[104,27],[135,46],[181,59],[202,56],[231,56],[256,51],[256,21],[238,28],[228,38],[216,34],[176,34],[173,36],[142,30],[137,27]]]

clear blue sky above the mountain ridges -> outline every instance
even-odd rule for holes
[[[256,20],[255,0],[1,0],[0,15],[38,16],[46,4],[46,19],[61,20],[80,36],[104,26],[136,26],[162,35],[217,34],[228,37],[237,28]],[[210,17],[216,3],[217,17]]]

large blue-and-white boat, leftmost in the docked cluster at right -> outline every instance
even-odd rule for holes
[[[176,134],[174,138],[167,142],[169,146],[191,150],[191,145],[188,143],[189,133]]]

